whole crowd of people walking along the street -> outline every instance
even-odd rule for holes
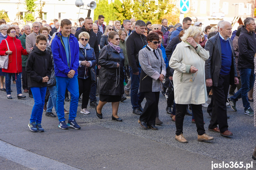
[[[79,18],[80,27],[73,25],[68,19],[54,19],[50,25],[36,21],[20,29],[17,22],[6,25],[0,20],[0,55],[9,56],[8,68],[0,69],[1,91],[12,99],[12,79],[18,99],[26,98],[21,85],[34,98],[31,131],[44,131],[43,110],[45,116],[56,117],[53,107],[58,127],[80,129],[75,120],[78,102],[82,103],[80,113],[90,114],[89,99],[100,119],[104,105],[111,102],[112,120],[121,122],[118,107],[126,100],[124,95],[131,95],[132,113],[140,115],[140,126],[158,130],[156,125],[163,124],[160,91],[167,99],[166,112],[176,124],[175,139],[182,143],[188,142],[183,135],[185,115],[192,116],[198,141],[214,139],[205,132],[202,107],[208,107],[211,116],[208,130],[222,136],[233,135],[228,130],[227,105],[237,111],[236,101],[242,98],[244,114],[254,116],[249,103],[255,101],[253,18],[246,18],[233,33],[230,22],[202,28],[201,22],[193,25],[189,17],[175,25],[168,25],[166,19],[161,25],[135,19],[107,25],[99,15],[94,22],[90,17]],[[64,102],[70,102],[69,111]],[[67,124],[65,114],[69,114]]]

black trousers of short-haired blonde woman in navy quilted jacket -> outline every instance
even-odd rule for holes
[[[77,79],[78,86],[79,86],[79,97],[83,94],[82,97],[82,109],[87,108],[89,102],[89,95],[91,91],[91,83],[92,80],[89,78],[87,79]]]

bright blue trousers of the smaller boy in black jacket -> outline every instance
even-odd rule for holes
[[[32,109],[32,113],[31,113],[31,117],[30,117],[30,122],[41,123],[43,109],[44,109],[44,98],[46,94],[46,87],[31,87],[30,89],[35,101]]]

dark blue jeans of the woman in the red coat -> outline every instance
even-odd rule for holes
[[[5,73],[5,89],[6,89],[7,95],[11,94],[11,78],[15,76],[16,76],[17,95],[22,93],[21,92],[21,73]]]

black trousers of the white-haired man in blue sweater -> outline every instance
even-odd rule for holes
[[[210,120],[209,128],[214,129],[217,127],[217,124],[219,124],[221,133],[228,130],[226,100],[228,97],[229,78],[230,75],[220,74],[218,86],[212,86],[212,98],[214,101],[212,106],[212,119]]]

